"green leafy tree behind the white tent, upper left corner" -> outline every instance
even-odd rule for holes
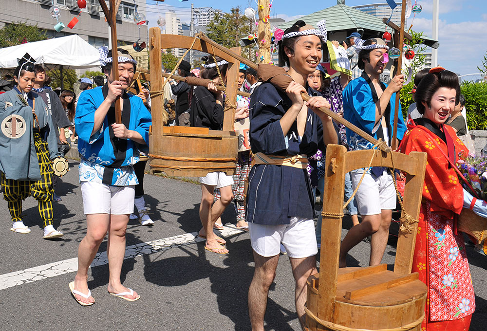
[[[0,48],[45,39],[48,39],[46,30],[37,28],[37,23],[36,25],[27,24],[27,20],[7,23],[0,29]]]

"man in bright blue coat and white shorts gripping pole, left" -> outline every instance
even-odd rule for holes
[[[133,212],[134,185],[138,184],[133,165],[139,161],[139,148],[147,149],[151,118],[142,99],[127,93],[137,62],[127,51],[118,50],[118,76],[114,77],[111,51],[106,47],[99,51],[108,82],[81,93],[75,117],[87,232],[79,244],[78,271],[69,287],[82,306],[94,304],[88,289],[88,268],[107,232],[108,292],[128,301],[140,298],[121,284],[120,272],[125,255],[125,231]],[[117,98],[122,109],[121,124],[115,123]]]

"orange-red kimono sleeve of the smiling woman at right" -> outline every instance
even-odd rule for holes
[[[447,209],[460,214],[463,208],[463,187],[455,170],[450,168],[448,160],[439,150],[440,144],[439,139],[431,141],[422,129],[414,128],[406,132],[401,151],[408,155],[412,151],[428,154],[423,198],[431,201],[431,211]]]

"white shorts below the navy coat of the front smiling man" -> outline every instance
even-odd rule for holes
[[[313,220],[293,217],[291,223],[281,225],[248,222],[248,228],[252,248],[263,257],[279,255],[281,243],[289,257],[311,257],[318,253]]]

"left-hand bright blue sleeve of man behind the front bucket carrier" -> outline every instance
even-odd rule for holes
[[[343,91],[343,110],[345,114],[352,114],[365,131],[374,135],[379,127],[375,124],[375,102],[363,79],[352,80]]]

